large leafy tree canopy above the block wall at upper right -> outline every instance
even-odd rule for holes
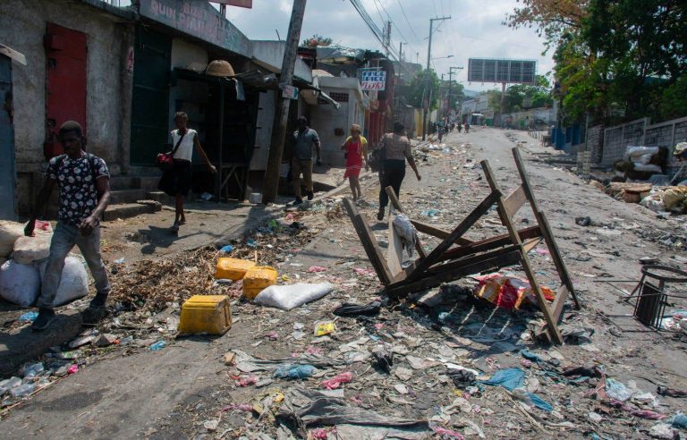
[[[555,50],[564,114],[615,123],[687,114],[687,2],[523,0],[506,17]]]

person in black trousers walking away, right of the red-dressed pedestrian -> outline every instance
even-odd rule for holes
[[[394,123],[394,132],[386,133],[379,140],[379,147],[384,148],[385,158],[379,170],[379,182],[381,189],[379,190],[379,211],[377,212],[377,220],[384,219],[384,210],[389,203],[389,196],[386,194],[386,187],[391,186],[396,193],[396,197],[401,197],[401,183],[405,177],[405,161],[411,165],[412,171],[415,172],[415,177],[418,182],[422,180],[418,172],[418,166],[415,165],[415,159],[412,158],[411,141],[405,135],[405,126],[403,123]]]

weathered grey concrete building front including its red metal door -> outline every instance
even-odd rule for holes
[[[30,211],[55,132],[81,123],[88,150],[120,173],[128,142],[135,14],[98,0],[0,2],[0,43],[26,56],[13,69],[16,211]]]

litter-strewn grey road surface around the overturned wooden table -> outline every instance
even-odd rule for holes
[[[526,134],[515,136],[532,142]],[[469,134],[452,133],[446,142],[450,148],[431,150],[427,161],[420,162],[421,182],[407,173],[401,200],[411,216],[450,228],[488,194],[479,160],[489,160],[505,190],[512,190],[518,180],[510,151],[514,144],[504,131],[477,128]],[[530,150],[537,148],[531,146]],[[670,233],[679,223],[611,199],[571,173],[529,153],[524,156],[540,207],[554,229],[583,304],[581,312],[566,309],[565,322],[593,330],[591,343],[539,345],[528,331],[530,322],[538,318],[533,309],[495,310],[446,288],[431,309],[401,305],[383,309],[377,317],[341,318],[335,334],[316,337],[312,329],[318,320],[331,319],[331,311],[344,301],[367,303],[374,299],[380,284],[365,270],[369,269],[367,258],[340,209],[314,211],[301,219],[310,231],[317,232],[310,242],[302,247],[286,243],[278,258],[260,263],[275,265],[290,282],[334,283],[335,292],[289,312],[236,302],[236,322],[223,337],[176,340],[162,351],[148,351],[145,346],[114,349],[13,410],[0,421],[4,437],[274,438],[277,427],[272,409],[279,408],[284,394],[289,400],[288,392],[297,383],[275,379],[261,388],[239,385],[253,373],[224,364],[222,355],[233,350],[260,359],[296,359],[313,353],[339,360],[360,356],[364,361],[318,368],[318,373],[301,385],[321,389],[320,381],[352,371],[352,383],[344,385],[343,394],[349,405],[389,417],[430,420],[435,430],[444,427],[487,438],[567,438],[590,433],[613,438],[648,436],[657,422],[599,402],[594,393],[598,379],[574,385],[560,380],[559,373],[562,368],[603,366],[607,377],[625,385],[634,381],[638,390],[654,396],[657,385],[687,389],[683,339],[637,324],[629,317],[632,307],[620,299],[620,292],[601,282],[639,279],[641,257],[656,256],[674,264],[673,255],[682,251],[647,237],[656,237],[659,230]],[[386,224],[372,220],[377,211],[376,179],[369,178],[363,185],[368,202],[363,211],[384,243]],[[592,224],[575,224],[578,216],[589,216]],[[528,207],[523,207],[516,219],[531,223]],[[467,237],[479,239],[504,232],[496,223],[492,213]],[[279,240],[277,237],[275,246],[281,246]],[[428,245],[431,243],[428,240]],[[533,251],[531,255],[540,281],[555,286],[555,271],[547,253]],[[324,267],[324,271],[312,267]],[[472,286],[474,282],[463,280],[460,284]],[[632,283],[617,285],[633,287]],[[674,309],[684,309],[684,304],[674,304]],[[394,351],[391,376],[369,367],[370,352],[381,343]],[[539,363],[523,367],[519,350],[524,348],[540,356],[548,367]],[[503,368],[523,368],[528,388],[550,402],[553,411],[530,405],[530,416],[525,416],[522,404],[495,386],[479,386],[476,393],[455,391],[446,376],[445,362],[475,368],[487,376]],[[406,370],[410,377],[401,374]],[[272,376],[263,370],[254,375],[265,381]],[[658,401],[658,406],[641,401],[638,408],[665,416],[687,409],[681,399],[659,397]],[[239,403],[248,404],[249,410],[232,406]],[[259,410],[256,403],[261,405]],[[592,413],[596,415],[590,416]],[[351,432],[340,429],[340,438]],[[378,432],[371,436],[375,435]],[[329,431],[329,438],[336,438],[334,431]]]

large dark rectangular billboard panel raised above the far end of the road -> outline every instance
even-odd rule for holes
[[[471,58],[468,61],[469,82],[507,82],[533,84],[537,74],[534,60]]]

